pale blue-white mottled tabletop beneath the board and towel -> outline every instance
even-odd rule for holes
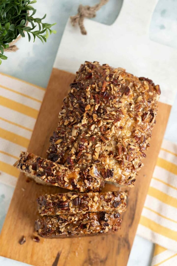
[[[37,40],[35,43],[28,43],[28,38],[21,38],[18,42],[19,50],[15,53],[6,53],[8,60],[2,62],[0,72],[46,88],[68,17],[77,13],[77,7],[80,3],[94,5],[97,2],[96,0],[53,0],[52,2],[50,0],[38,0],[35,4],[35,8],[38,10],[36,13],[37,16],[40,17],[47,13],[46,22],[57,22],[54,27],[57,30],[57,34],[51,35],[44,45],[40,40]],[[94,20],[111,25],[119,14],[122,2],[122,0],[110,0],[106,6],[103,6],[102,9],[97,12],[97,16]],[[177,0],[159,0],[150,24],[149,38],[177,49]],[[175,103],[172,107],[165,133],[165,139],[177,143],[176,114],[177,97],[175,98]],[[0,230],[13,191],[14,188],[0,184]],[[136,236],[128,266],[150,265],[153,249],[153,243]],[[27,264],[0,256],[0,265],[22,266]]]

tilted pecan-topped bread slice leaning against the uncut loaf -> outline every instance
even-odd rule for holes
[[[104,181],[100,178],[87,178],[79,171],[70,170],[33,153],[21,152],[20,159],[14,166],[28,176],[44,181],[45,184],[61,188],[86,192],[99,191],[104,186]]]

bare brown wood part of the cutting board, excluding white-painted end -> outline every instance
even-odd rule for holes
[[[74,74],[53,68],[49,85],[37,118],[28,151],[46,157],[49,138],[57,127],[58,113]],[[143,209],[149,183],[156,165],[171,106],[159,103],[157,123],[154,126],[150,148],[143,160],[135,187],[129,191],[127,211],[123,214],[122,228],[110,235],[71,239],[32,240],[34,220],[37,218],[36,198],[44,193],[57,193],[60,188],[27,182],[20,173],[14,195],[0,236],[0,255],[35,266],[89,266],[127,265],[129,253]],[[118,190],[106,184],[105,190]],[[19,244],[24,235],[26,243]],[[57,255],[58,254],[58,255]],[[58,264],[57,264],[58,261]]]

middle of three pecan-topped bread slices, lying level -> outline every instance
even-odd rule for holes
[[[125,192],[58,193],[38,197],[40,215],[126,210]]]

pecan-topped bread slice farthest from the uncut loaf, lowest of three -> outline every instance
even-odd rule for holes
[[[92,236],[117,231],[121,217],[117,212],[62,214],[44,216],[35,222],[35,230],[45,238]]]

